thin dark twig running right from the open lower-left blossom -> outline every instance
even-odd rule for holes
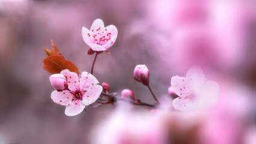
[[[100,101],[97,101],[98,103],[101,103],[101,104],[111,104],[111,103],[114,103],[116,101],[125,101],[126,103],[131,103],[133,105],[136,105],[136,106],[142,106],[142,107],[146,107],[148,109],[154,109],[156,108],[157,106],[154,105],[154,104],[148,104],[148,103],[143,103],[142,101],[140,100],[130,100],[130,99],[126,99],[126,98],[122,98],[122,97],[117,97],[115,96],[116,94],[115,93],[112,93],[112,94],[107,94],[105,92],[101,92],[102,95],[105,95],[107,97],[110,97],[110,100],[111,101],[107,101],[107,102],[100,102]],[[99,99],[99,100],[102,100],[102,99]]]

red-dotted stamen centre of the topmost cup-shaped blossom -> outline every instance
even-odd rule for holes
[[[106,28],[101,29],[101,27],[99,27],[98,29],[92,29],[91,32],[92,35],[88,33],[88,36],[94,44],[99,44],[102,46],[111,40],[111,32],[108,32]]]

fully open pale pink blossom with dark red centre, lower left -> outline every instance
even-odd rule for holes
[[[67,79],[68,89],[62,92],[53,91],[51,98],[54,103],[66,106],[65,114],[75,116],[84,110],[84,107],[94,103],[101,94],[102,86],[96,85],[98,80],[84,71],[80,78],[69,70],[61,71]]]

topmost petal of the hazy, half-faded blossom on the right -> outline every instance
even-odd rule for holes
[[[187,71],[187,79],[189,79],[192,85],[202,85],[204,83],[204,73],[202,68],[198,65],[193,65]]]

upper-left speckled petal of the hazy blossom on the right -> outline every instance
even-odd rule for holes
[[[192,91],[189,79],[186,77],[173,76],[170,80],[173,91],[180,97],[186,97]]]

